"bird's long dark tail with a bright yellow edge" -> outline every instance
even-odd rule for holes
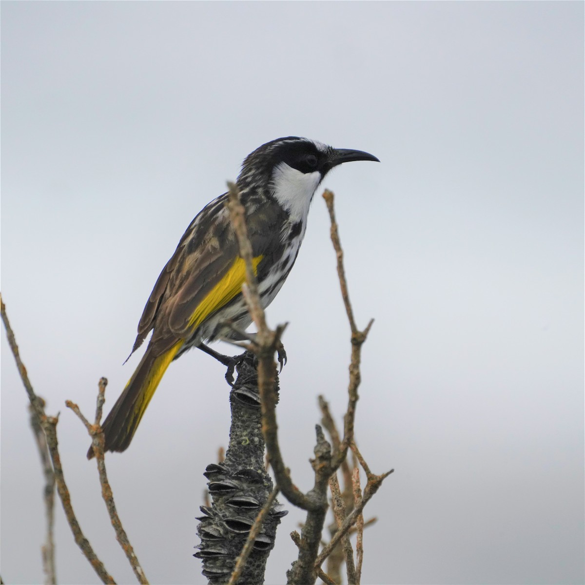
[[[173,361],[183,343],[183,340],[178,341],[159,356],[154,355],[155,351],[152,345],[147,347],[124,391],[102,423],[106,451],[128,449],[140,419],[142,419],[154,391],[159,386],[168,364]],[[90,447],[87,458],[91,459],[93,456],[94,449]]]

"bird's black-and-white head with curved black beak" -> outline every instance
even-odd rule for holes
[[[238,185],[261,190],[298,219],[306,218],[316,188],[329,171],[353,160],[375,160],[362,150],[335,149],[316,140],[288,136],[262,144],[243,162]]]

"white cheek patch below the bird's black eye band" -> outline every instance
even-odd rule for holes
[[[280,163],[272,174],[271,191],[278,203],[290,213],[292,222],[305,222],[320,181],[319,171],[301,173],[286,163]]]

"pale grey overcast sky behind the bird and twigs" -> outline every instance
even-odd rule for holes
[[[1,4],[2,297],[47,411],[61,411],[82,528],[134,582],[88,437],[160,270],[243,158],[288,135],[366,150],[335,191],[363,347],[356,433],[390,476],[366,508],[363,582],[583,583],[583,2]],[[320,192],[268,311],[289,321],[278,424],[302,489],[319,412],[346,403],[349,326]],[[228,346],[218,349],[229,350]],[[229,388],[173,363],[106,458],[151,583],[192,558]],[[202,408],[202,407],[205,408]],[[2,332],[1,574],[42,580],[43,480]],[[202,440],[205,438],[205,440]],[[267,583],[295,556],[292,511]],[[57,504],[60,583],[95,583]]]

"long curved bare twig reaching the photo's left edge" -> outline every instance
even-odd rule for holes
[[[83,532],[81,531],[79,522],[77,521],[77,518],[75,518],[75,513],[73,511],[73,507],[71,506],[71,497],[69,495],[69,490],[67,489],[67,484],[65,483],[63,468],[61,467],[61,457],[59,455],[58,449],[59,442],[57,441],[57,422],[59,422],[59,417],[47,417],[44,412],[43,405],[35,394],[32,384],[30,384],[29,377],[26,373],[26,368],[22,363],[22,360],[20,360],[18,345],[16,345],[16,339],[10,326],[10,322],[8,321],[8,315],[6,315],[6,307],[4,305],[4,301],[2,300],[2,295],[0,295],[0,307],[2,321],[4,322],[4,326],[6,328],[6,337],[8,338],[8,343],[12,350],[12,355],[16,361],[16,367],[18,368],[20,379],[25,386],[26,393],[29,396],[30,404],[39,416],[40,423],[47,438],[47,446],[49,448],[51,462],[53,463],[53,471],[57,484],[57,493],[59,494],[61,504],[63,505],[63,510],[65,511],[65,516],[71,528],[71,532],[73,532],[75,543],[77,543],[77,546],[79,546],[79,548],[82,550],[85,557],[90,562],[90,565],[94,567],[95,572],[98,574],[102,582],[115,583],[113,577],[106,571],[104,563],[98,559],[94,549],[92,549],[90,545],[90,542],[87,538],[85,538]]]

